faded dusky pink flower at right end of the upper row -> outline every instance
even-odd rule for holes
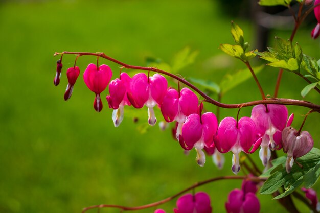
[[[283,150],[287,153],[286,171],[290,173],[296,158],[307,154],[313,147],[313,139],[309,132],[296,131],[292,127],[286,127],[282,131]]]

